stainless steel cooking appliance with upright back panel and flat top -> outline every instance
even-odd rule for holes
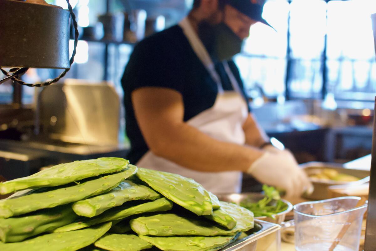
[[[36,135],[0,141],[0,151],[29,160],[5,161],[10,158],[0,154],[0,175],[14,179],[46,165],[126,157],[128,146],[119,140],[120,113],[120,97],[107,82],[66,80],[44,87],[35,109]],[[35,156],[43,161],[30,164]]]

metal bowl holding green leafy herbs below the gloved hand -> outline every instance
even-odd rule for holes
[[[256,193],[256,192],[244,192],[240,194],[219,194],[217,195],[218,199],[221,201],[232,202],[236,204],[240,204],[241,201],[247,202],[257,202],[265,197],[264,194]],[[287,213],[293,210],[293,204],[291,204],[287,200],[283,200],[284,203],[287,204],[287,209],[283,212],[277,213],[274,215],[275,219],[269,218],[267,216],[255,217],[255,219],[260,219],[262,221],[268,221],[271,223],[280,224],[285,221]]]

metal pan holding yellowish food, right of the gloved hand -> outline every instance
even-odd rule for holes
[[[341,164],[336,163],[325,163],[325,162],[308,162],[305,164],[301,164],[300,167],[303,168],[303,170],[307,174],[312,174],[317,169],[323,169],[323,168],[331,168],[334,170],[337,170],[339,173],[349,174],[353,175],[355,177],[359,177],[360,180],[353,181],[353,182],[336,182],[334,180],[315,180],[311,179],[311,182],[314,186],[314,192],[311,195],[304,194],[303,197],[307,198],[309,200],[325,200],[329,198],[329,186],[334,185],[347,185],[347,186],[358,186],[364,183],[369,182],[370,180],[370,171],[366,170],[357,170],[357,169],[350,169],[350,168],[344,168]]]

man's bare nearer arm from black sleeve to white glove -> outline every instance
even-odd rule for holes
[[[215,140],[183,122],[179,92],[143,87],[132,92],[132,104],[150,150],[197,171],[247,171],[264,152],[250,146]]]

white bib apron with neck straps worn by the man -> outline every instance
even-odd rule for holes
[[[217,140],[240,145],[245,144],[245,135],[242,125],[247,118],[248,108],[229,65],[227,62],[223,63],[234,91],[223,91],[221,80],[215,71],[214,64],[206,48],[191,27],[188,19],[185,18],[182,20],[179,26],[183,29],[196,55],[200,58],[218,86],[218,95],[213,107],[197,114],[186,123]],[[210,156],[208,156],[208,158],[210,158]],[[241,191],[242,173],[240,171],[194,171],[167,159],[158,157],[151,151],[148,151],[136,165],[153,170],[177,173],[192,178],[214,194],[239,193]]]

